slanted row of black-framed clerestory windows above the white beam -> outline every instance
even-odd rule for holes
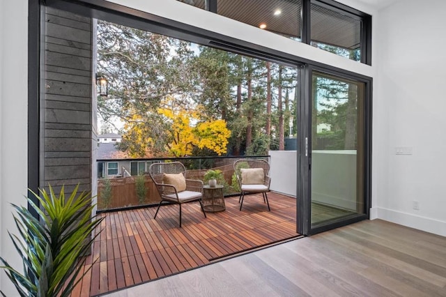
[[[333,0],[178,1],[371,65],[371,16]]]

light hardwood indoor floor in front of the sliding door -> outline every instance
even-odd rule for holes
[[[446,238],[363,221],[109,296],[446,296]]]

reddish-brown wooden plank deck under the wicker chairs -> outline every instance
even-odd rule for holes
[[[197,202],[185,204],[182,228],[178,205],[161,206],[156,220],[156,208],[103,213],[103,231],[86,261],[91,270],[72,296],[122,289],[299,236],[295,199],[271,192],[268,200],[270,212],[261,195],[246,196],[239,211],[238,197],[229,197],[226,211],[208,218]]]

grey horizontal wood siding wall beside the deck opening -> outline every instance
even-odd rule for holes
[[[41,109],[43,176],[66,192],[79,183],[91,190],[92,146],[92,20],[61,10],[45,11],[45,86]],[[93,141],[92,141],[93,140]]]

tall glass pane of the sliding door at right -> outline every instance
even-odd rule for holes
[[[311,229],[364,215],[364,83],[312,75]]]

